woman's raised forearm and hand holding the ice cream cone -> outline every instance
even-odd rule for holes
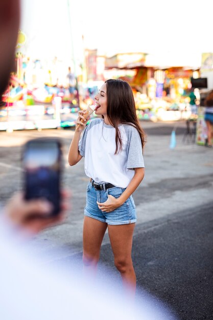
[[[88,121],[84,119],[83,114],[85,111],[79,111],[79,117],[76,121],[76,131],[74,133],[73,140],[69,146],[69,153],[68,153],[68,163],[70,166],[76,165],[82,158],[82,155],[80,155],[80,152],[78,150],[78,144],[81,136],[81,131],[85,128],[86,122]],[[80,122],[80,120],[83,119],[83,122]],[[78,127],[78,124],[81,126]],[[77,129],[78,127],[78,129]]]

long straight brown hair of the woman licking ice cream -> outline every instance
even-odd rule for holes
[[[109,79],[106,80],[105,83],[107,87],[107,117],[111,125],[115,128],[115,154],[122,150],[119,124],[129,124],[136,128],[140,135],[142,147],[144,147],[146,143],[146,134],[139,125],[135,101],[129,83],[120,79]]]

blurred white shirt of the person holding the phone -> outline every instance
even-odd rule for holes
[[[3,225],[4,224],[4,225]],[[107,284],[94,284],[80,271],[57,269],[29,253],[0,219],[1,320],[171,320],[158,303],[143,296],[139,304]],[[27,249],[28,247],[28,249]]]

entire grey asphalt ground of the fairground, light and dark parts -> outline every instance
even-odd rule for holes
[[[145,179],[133,195],[137,224],[132,258],[138,290],[144,288],[180,319],[212,320],[213,150],[197,146],[191,137],[183,142],[184,122],[178,123],[177,145],[173,150],[169,145],[175,123],[141,122],[141,125],[148,134],[148,142],[144,150]],[[21,189],[23,143],[43,135],[61,137],[66,163],[73,130],[0,132],[1,204]],[[63,186],[73,193],[67,220],[33,240],[44,254],[49,252],[49,260],[72,263],[82,255],[88,183],[83,165],[83,161],[71,168],[65,165]],[[107,234],[101,263],[119,278]]]

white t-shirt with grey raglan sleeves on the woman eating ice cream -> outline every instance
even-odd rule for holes
[[[85,173],[98,183],[107,182],[126,188],[134,176],[134,168],[144,168],[142,145],[136,128],[119,126],[122,151],[115,154],[115,128],[103,119],[94,119],[86,127],[79,142],[79,151],[85,157]]]

